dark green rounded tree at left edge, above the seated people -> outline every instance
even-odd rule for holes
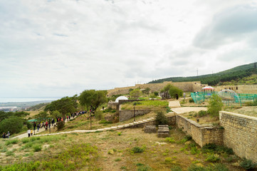
[[[8,131],[11,134],[20,133],[23,128],[23,119],[11,116],[10,118],[6,118],[1,120],[0,122],[0,133],[7,133]]]

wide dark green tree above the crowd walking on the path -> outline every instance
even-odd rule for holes
[[[77,97],[74,95],[72,98],[65,97],[52,101],[49,105],[46,105],[45,111],[53,113],[53,111],[58,110],[62,116],[65,116],[67,113],[74,113],[76,108],[78,108],[78,103]]]

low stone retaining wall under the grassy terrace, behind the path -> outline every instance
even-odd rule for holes
[[[135,110],[135,116],[145,115],[150,113],[152,110]],[[120,122],[124,120],[129,120],[134,117],[134,110],[119,110],[119,120]]]

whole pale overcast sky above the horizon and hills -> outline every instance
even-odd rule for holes
[[[257,61],[248,0],[1,0],[0,97],[63,97]]]

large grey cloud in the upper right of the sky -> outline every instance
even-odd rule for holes
[[[194,38],[194,46],[217,48],[225,43],[250,38],[257,31],[256,6],[234,6],[216,14]]]

